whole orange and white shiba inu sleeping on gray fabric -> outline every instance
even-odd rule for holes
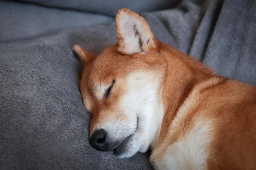
[[[90,144],[118,157],[150,148],[155,169],[256,169],[256,88],[159,42],[128,9],[116,27],[117,44],[98,57],[73,47]]]

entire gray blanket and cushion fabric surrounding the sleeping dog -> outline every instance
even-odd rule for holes
[[[71,48],[99,53],[115,43],[119,7],[141,13],[162,42],[256,85],[256,1],[137,1],[0,1],[1,170],[151,169],[149,151],[120,159],[88,142]]]

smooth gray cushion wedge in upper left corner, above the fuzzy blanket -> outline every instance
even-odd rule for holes
[[[105,15],[0,1],[0,42],[35,38],[49,32],[114,22]]]

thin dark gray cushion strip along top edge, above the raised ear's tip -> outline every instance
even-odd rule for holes
[[[75,9],[115,16],[118,9],[129,8],[137,13],[168,9],[180,0],[20,0],[48,7]]]

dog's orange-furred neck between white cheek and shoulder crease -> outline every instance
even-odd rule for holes
[[[216,74],[201,62],[172,47],[165,44],[162,44],[161,47],[166,49],[160,54],[164,56],[163,60],[166,63],[166,73],[162,84],[164,118],[160,130],[161,139],[164,139],[178,109],[191,93],[195,84],[216,76]],[[161,139],[157,143],[161,143]]]

